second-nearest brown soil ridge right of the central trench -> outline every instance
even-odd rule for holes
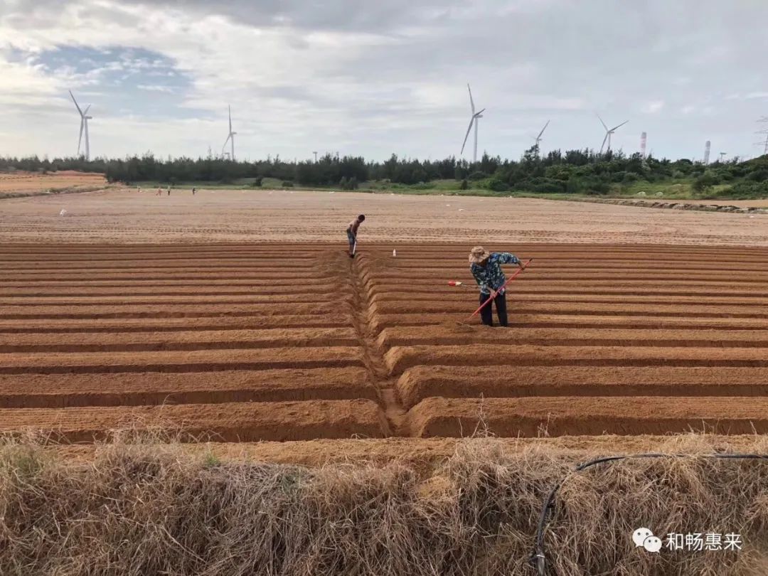
[[[768,396],[768,368],[415,366],[402,373],[397,389],[408,409],[431,396],[765,397]]]

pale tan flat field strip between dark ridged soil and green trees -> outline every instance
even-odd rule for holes
[[[36,243],[654,243],[768,247],[768,214],[536,200],[270,190],[104,190],[4,200],[0,240]],[[60,216],[66,210],[65,216]],[[392,248],[389,249],[389,252]],[[465,257],[462,257],[462,261]]]

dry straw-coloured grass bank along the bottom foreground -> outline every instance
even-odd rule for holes
[[[2,442],[0,574],[535,574],[541,505],[574,465],[570,452],[485,438],[457,442],[425,474],[407,462],[229,462],[131,436],[88,461]],[[568,479],[546,532],[550,574],[765,574],[768,462],[695,457],[712,446],[681,436],[664,452],[694,457]],[[650,554],[631,542],[641,525],[736,532],[744,549]]]

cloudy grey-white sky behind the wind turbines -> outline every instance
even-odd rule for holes
[[[614,147],[754,156],[765,0],[0,0],[0,155],[458,156]],[[471,154],[471,141],[465,155]]]

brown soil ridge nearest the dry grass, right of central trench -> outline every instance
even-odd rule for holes
[[[478,426],[501,436],[768,433],[765,398],[428,398],[409,411],[417,436],[471,435]]]

